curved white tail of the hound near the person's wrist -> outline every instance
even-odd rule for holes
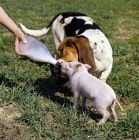
[[[50,29],[51,29],[51,26],[47,27],[47,28],[43,28],[43,29],[40,29],[40,30],[30,30],[30,29],[27,29],[23,24],[20,23],[20,26],[23,30],[24,33],[26,34],[29,34],[29,35],[32,35],[32,36],[42,36],[42,35],[45,35],[47,34]]]

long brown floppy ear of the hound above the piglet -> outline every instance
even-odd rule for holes
[[[91,66],[89,69],[90,73],[96,70],[96,63],[94,59],[94,51],[90,46],[89,40],[85,37],[76,37],[74,46],[78,52],[78,60],[83,64],[88,64]]]

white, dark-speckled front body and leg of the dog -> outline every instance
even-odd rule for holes
[[[103,71],[100,79],[106,82],[113,65],[112,48],[108,39],[98,29],[86,30],[79,36],[85,36],[89,39],[90,45],[94,51],[96,71]]]

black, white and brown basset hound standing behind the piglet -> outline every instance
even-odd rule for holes
[[[78,12],[60,13],[41,30],[30,30],[20,25],[24,33],[32,36],[51,31],[55,46],[53,56],[59,62],[87,63],[91,65],[89,72],[101,71],[100,79],[106,82],[113,65],[111,45],[99,25],[87,15]],[[57,69],[59,66],[54,67]]]

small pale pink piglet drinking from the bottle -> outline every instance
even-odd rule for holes
[[[104,124],[111,117],[117,121],[115,104],[117,103],[121,110],[120,103],[116,99],[113,89],[105,82],[88,73],[91,66],[79,62],[62,62],[61,72],[69,78],[70,86],[74,94],[74,104],[78,105],[79,97],[82,94],[82,106],[86,106],[87,99],[94,103],[94,107],[102,115],[98,124]],[[107,111],[109,107],[110,113]]]

